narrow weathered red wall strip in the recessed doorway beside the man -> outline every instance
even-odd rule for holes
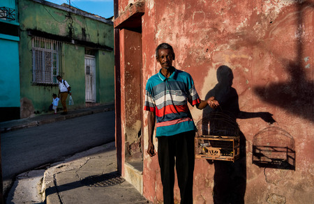
[[[124,29],[119,32],[119,40],[121,92],[117,92],[116,97],[121,100],[117,105],[119,105],[122,124],[121,140],[117,140],[117,149],[121,148],[121,157],[118,156],[118,160],[121,159],[122,162],[119,164],[124,164],[124,162],[142,161],[142,109],[140,105],[142,39],[140,33]],[[118,169],[122,175],[125,175],[124,165],[118,166]]]

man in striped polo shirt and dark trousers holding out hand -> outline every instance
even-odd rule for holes
[[[158,162],[165,204],[174,203],[174,166],[181,203],[193,203],[195,124],[187,102],[196,105],[197,109],[204,109],[207,104],[211,108],[219,105],[214,97],[200,100],[190,74],[172,67],[174,58],[171,45],[158,45],[156,60],[161,69],[147,81],[144,104],[144,110],[149,111],[147,153],[151,157],[155,155],[153,134],[156,123]]]

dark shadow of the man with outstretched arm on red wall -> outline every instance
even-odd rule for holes
[[[240,111],[239,96],[232,88],[233,73],[226,65],[222,65],[217,70],[218,84],[207,93],[205,99],[214,96],[218,100],[220,107],[216,110],[207,107],[203,111],[206,118],[213,111],[227,113],[234,122],[237,118],[262,118],[267,123],[276,122],[269,112],[249,113]],[[206,120],[204,120],[206,121]],[[208,124],[202,124],[207,127]],[[219,160],[207,160],[209,164],[214,163],[214,203],[244,203],[246,191],[246,137],[239,131],[240,137],[240,157],[235,162]]]

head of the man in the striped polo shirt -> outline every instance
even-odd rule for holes
[[[174,58],[174,51],[171,45],[165,42],[158,45],[156,48],[156,60],[160,63],[162,68],[171,68]]]

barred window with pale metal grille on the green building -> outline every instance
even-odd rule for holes
[[[57,84],[60,71],[61,42],[33,37],[33,83]]]

